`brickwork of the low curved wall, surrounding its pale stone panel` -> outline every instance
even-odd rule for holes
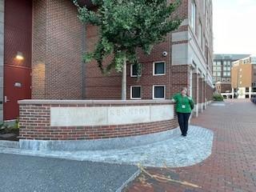
[[[139,106],[140,104],[131,104]],[[143,105],[143,104],[141,104]],[[160,105],[153,103],[150,105]],[[121,138],[142,134],[153,134],[174,129],[174,119],[161,122],[137,123],[110,126],[50,126],[50,107],[93,107],[114,104],[20,104],[20,138],[38,140],[79,140],[99,138]],[[117,106],[120,106],[120,104]]]

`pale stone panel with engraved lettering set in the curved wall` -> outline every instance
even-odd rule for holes
[[[173,105],[52,107],[51,126],[104,126],[165,121],[174,118]]]

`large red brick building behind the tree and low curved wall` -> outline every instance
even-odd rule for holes
[[[90,1],[82,2],[91,7]],[[8,61],[22,53],[22,65],[31,70],[32,75],[28,77],[31,95],[15,98],[15,105],[23,98],[121,98],[122,74],[112,71],[105,77],[95,62],[82,63],[82,52],[94,49],[98,31],[94,26],[82,26],[72,1],[8,0],[1,3],[5,21],[10,21],[4,24],[4,64],[8,65]],[[184,18],[178,30],[168,34],[165,42],[154,46],[150,56],[139,53],[142,76],[134,77],[133,66],[127,67],[127,99],[170,98],[186,86],[197,104],[195,113],[198,114],[206,108],[213,91],[212,2],[184,0],[176,14]],[[8,37],[14,32],[15,38]],[[26,38],[22,34],[26,34]],[[15,80],[14,84],[19,81]],[[30,82],[26,85],[30,87]],[[8,86],[13,86],[13,82]],[[15,91],[19,90],[12,93]],[[4,90],[3,95],[6,93]],[[7,108],[4,107],[4,111]],[[14,114],[13,118],[16,117]]]

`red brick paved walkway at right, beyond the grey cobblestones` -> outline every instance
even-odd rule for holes
[[[141,174],[126,192],[255,192],[256,191],[256,105],[248,99],[227,100],[225,106],[210,106],[192,119],[193,125],[214,131],[210,158],[178,169],[147,168],[150,174],[170,176],[201,186],[193,188],[174,182],[158,182]]]

